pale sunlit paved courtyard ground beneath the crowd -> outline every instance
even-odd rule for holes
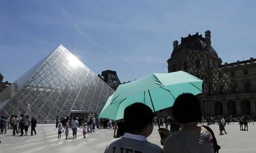
[[[210,125],[217,136],[221,146],[220,152],[256,152],[256,124],[249,124],[249,131],[240,131],[237,122],[226,126],[228,134],[219,136],[219,126]],[[160,145],[157,127],[148,141]],[[30,129],[29,129],[30,131]],[[12,131],[0,135],[2,143],[0,152],[102,152],[106,144],[113,139],[113,129],[96,129],[95,133],[87,134],[83,139],[82,129],[78,129],[76,139],[65,140],[62,133],[60,140],[57,139],[57,130],[54,124],[38,124],[37,135],[34,136],[12,136]],[[30,134],[30,133],[29,133]],[[72,138],[72,132],[69,137]]]

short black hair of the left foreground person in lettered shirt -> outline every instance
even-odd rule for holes
[[[134,103],[124,109],[124,124],[126,131],[138,134],[148,123],[153,123],[154,113],[151,108],[142,103]]]

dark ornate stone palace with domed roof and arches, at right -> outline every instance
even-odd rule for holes
[[[224,63],[211,46],[210,31],[173,41],[168,72],[183,70],[203,80],[203,115],[256,113],[256,59]]]

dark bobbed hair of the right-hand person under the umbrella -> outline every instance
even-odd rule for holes
[[[191,93],[179,95],[173,105],[173,115],[178,123],[201,121],[202,112],[199,99]]]

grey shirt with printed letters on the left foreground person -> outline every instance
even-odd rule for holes
[[[114,139],[105,148],[104,153],[135,152],[135,153],[158,153],[163,149],[156,144],[150,143],[146,137],[125,133],[122,137]]]

